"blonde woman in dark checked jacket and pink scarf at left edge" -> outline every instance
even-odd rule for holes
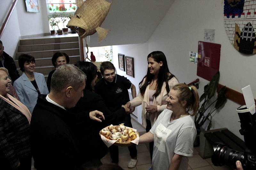
[[[31,114],[9,93],[8,70],[0,67],[0,165],[1,169],[31,169],[29,144]]]

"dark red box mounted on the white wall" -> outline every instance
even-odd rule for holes
[[[196,75],[211,81],[220,67],[220,44],[198,41]],[[201,58],[199,58],[201,56]]]

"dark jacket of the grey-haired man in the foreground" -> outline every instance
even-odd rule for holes
[[[37,170],[78,170],[86,161],[76,137],[76,124],[89,118],[73,114],[39,95],[31,117],[31,151]],[[89,154],[89,153],[88,153]]]

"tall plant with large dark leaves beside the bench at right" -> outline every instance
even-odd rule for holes
[[[200,96],[200,105],[195,115],[195,125],[197,131],[197,137],[194,142],[194,146],[199,146],[199,134],[203,130],[202,126],[207,123],[207,130],[210,130],[212,127],[212,117],[216,113],[215,111],[221,106],[224,106],[227,98],[225,96],[226,86],[222,87],[219,92],[217,92],[217,98],[215,96],[217,86],[220,80],[220,72],[218,71],[213,77],[212,80],[204,86],[204,93]],[[212,97],[215,96],[215,99]],[[214,105],[215,104],[215,105]]]

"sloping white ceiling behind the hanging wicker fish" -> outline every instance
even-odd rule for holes
[[[101,27],[110,29],[98,43],[90,36],[90,46],[138,44],[148,41],[175,0],[114,0]]]

